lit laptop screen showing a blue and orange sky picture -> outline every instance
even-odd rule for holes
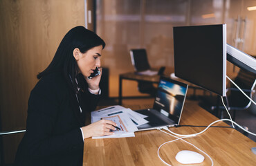
[[[187,91],[188,84],[183,84],[167,77],[161,77],[153,109],[156,109],[178,124]]]

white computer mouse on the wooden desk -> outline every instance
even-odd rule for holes
[[[203,155],[189,150],[179,151],[175,158],[181,164],[199,164],[204,160]]]

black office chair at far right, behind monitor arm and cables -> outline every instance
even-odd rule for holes
[[[233,80],[241,90],[248,95],[248,97],[253,98],[253,93],[255,93],[256,75],[254,73],[240,70],[235,80]],[[235,85],[230,86],[227,89],[226,98],[223,98],[224,103],[228,111],[233,111],[232,120],[235,121],[236,111],[243,111],[250,107],[252,103],[246,96],[244,96]],[[218,118],[223,118],[223,111],[226,110],[223,107],[221,98],[219,96],[203,96],[201,98],[203,105],[208,105],[210,111],[212,111]],[[208,107],[208,108],[209,108]],[[219,115],[220,114],[220,115]]]

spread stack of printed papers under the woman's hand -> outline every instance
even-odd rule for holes
[[[111,136],[93,137],[95,138],[122,138],[134,137],[134,131],[138,131],[137,126],[147,123],[147,116],[136,113],[131,109],[127,109],[120,105],[107,107],[91,112],[91,122],[106,119],[116,122],[120,130],[113,131],[115,134]]]

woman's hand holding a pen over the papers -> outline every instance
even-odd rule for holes
[[[98,122],[94,122],[88,126],[82,127],[84,139],[93,136],[113,135],[114,133],[111,132],[111,130],[116,130],[116,128],[113,126],[117,126],[117,124],[111,120],[99,120]]]

